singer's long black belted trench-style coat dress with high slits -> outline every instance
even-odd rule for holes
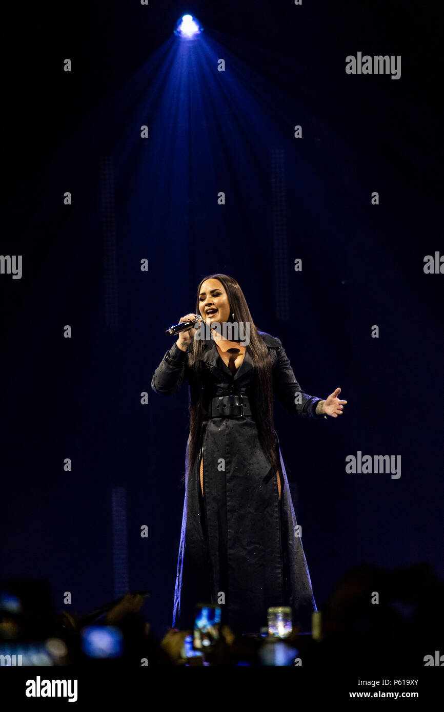
[[[302,391],[282,343],[267,333],[259,335],[272,360],[274,396],[290,414],[322,419],[315,413],[320,399]],[[254,362],[248,347],[234,372],[213,339],[204,340],[202,347],[204,402],[227,392],[254,399]],[[188,356],[172,346],[153,375],[155,392],[175,394],[194,377]],[[280,500],[276,471],[259,444],[252,415],[214,417],[210,412],[206,417],[204,409],[200,456],[185,483],[173,627],[192,629],[195,604],[212,602],[222,604],[222,620],[234,632],[258,632],[267,625],[267,608],[279,605],[291,606],[301,632],[311,631],[316,603],[278,440],[276,446]]]

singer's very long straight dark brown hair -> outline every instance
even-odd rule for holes
[[[256,421],[259,442],[264,454],[270,460],[270,466],[276,470],[278,467],[276,438],[274,435],[273,420],[273,385],[272,361],[264,340],[259,335],[249,312],[247,300],[237,281],[226,274],[210,274],[202,279],[197,287],[196,313],[199,314],[199,294],[202,283],[207,279],[218,279],[227,292],[230,313],[234,314],[233,322],[249,323],[249,355],[254,362],[254,383],[249,395],[252,408],[252,417]],[[188,444],[187,473],[195,464],[199,449],[200,427],[202,424],[202,381],[200,375],[200,356],[202,355],[203,342],[195,339],[190,347],[188,365],[194,377],[190,378],[188,395],[188,412],[190,414],[190,441]]]

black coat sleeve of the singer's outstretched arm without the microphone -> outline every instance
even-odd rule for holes
[[[291,368],[289,357],[286,355],[282,342],[276,339],[277,347],[274,350],[273,359],[273,393],[279,399],[287,412],[291,415],[298,415],[302,418],[316,418],[319,420],[324,416],[316,415],[316,405],[321,398],[310,396],[305,393]]]

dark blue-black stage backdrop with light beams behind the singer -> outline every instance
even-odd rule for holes
[[[48,580],[58,609],[66,591],[76,612],[111,600],[124,487],[129,588],[150,592],[155,630],[170,624],[187,389],[162,398],[150,380],[212,272],[239,281],[306,392],[348,401],[320,422],[276,407],[316,603],[358,562],[443,575],[444,277],[423,272],[444,251],[438,4],[14,12],[0,251],[23,276],[0,275],[2,575]],[[172,35],[185,12],[205,27],[187,47]],[[401,79],[347,75],[358,51],[401,55]],[[358,450],[401,455],[401,478],[346,473]]]

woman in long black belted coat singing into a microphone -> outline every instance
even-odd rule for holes
[[[267,624],[269,606],[289,605],[293,624],[309,632],[316,604],[274,431],[273,397],[290,414],[315,419],[338,417],[346,401],[338,399],[340,388],[325,400],[301,389],[282,343],[257,330],[232,277],[201,281],[196,314],[180,321],[196,315],[200,327],[179,333],[151,382],[165,395],[189,384],[172,625],[192,628],[195,604],[211,602],[221,604],[222,621],[234,632],[254,633]],[[243,342],[227,338],[229,323],[244,329]]]

